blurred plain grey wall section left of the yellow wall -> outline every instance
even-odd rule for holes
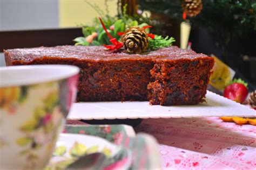
[[[58,0],[0,0],[0,31],[57,28]]]

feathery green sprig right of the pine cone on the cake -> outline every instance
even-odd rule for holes
[[[175,39],[173,37],[161,37],[161,36],[155,36],[154,39],[149,40],[149,46],[147,47],[149,50],[155,50],[158,48],[164,48],[169,47],[172,45],[172,43],[175,42]]]

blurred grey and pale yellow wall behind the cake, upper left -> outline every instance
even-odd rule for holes
[[[105,0],[87,1],[105,12]],[[117,0],[107,2],[109,15],[116,15]],[[0,0],[0,31],[77,27],[95,17],[99,14],[84,0]],[[2,52],[0,66],[5,66]]]

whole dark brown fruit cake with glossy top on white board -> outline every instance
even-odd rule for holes
[[[65,64],[80,68],[78,102],[146,101],[184,105],[204,101],[214,59],[176,46],[146,54],[102,46],[8,49],[6,65]]]

